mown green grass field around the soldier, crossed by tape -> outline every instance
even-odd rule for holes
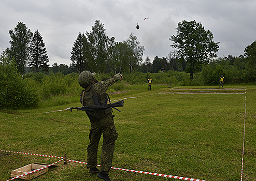
[[[256,180],[256,86],[224,87],[246,87],[246,94],[237,94],[245,93],[245,89],[212,90],[219,89],[218,86],[170,90],[167,85],[152,85],[151,91],[147,85],[144,87],[110,95],[112,100],[130,97],[124,100],[121,113],[113,111],[118,140],[112,167],[208,181],[240,180],[246,98],[243,180]],[[218,94],[210,94],[213,92]],[[35,110],[2,110],[0,149],[61,157],[66,153],[67,159],[86,162],[90,129],[86,114],[75,110],[52,112],[79,106],[77,102]],[[101,145],[98,164],[100,154]],[[26,164],[58,160],[0,152],[0,180],[10,179],[11,170]],[[110,178],[114,181],[178,180],[113,169]],[[85,164],[64,165],[62,161],[33,180],[99,179],[88,173]]]

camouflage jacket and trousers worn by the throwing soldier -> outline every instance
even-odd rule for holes
[[[89,71],[87,71],[88,73]],[[89,73],[90,74],[90,73]],[[81,74],[80,74],[81,75]],[[79,76],[80,77],[80,76]],[[81,78],[83,79],[83,78]],[[108,78],[104,81],[96,81],[93,76],[89,75],[89,80],[87,84],[79,84],[86,88],[85,94],[81,93],[80,101],[83,102],[83,99],[86,99],[86,93],[90,91],[93,87],[95,89],[95,93],[97,95],[99,103],[104,103],[106,97],[107,88],[113,83],[117,82],[121,79],[120,74],[116,74],[111,78]],[[92,83],[91,80],[94,80]],[[92,87],[90,86],[92,84]],[[83,104],[84,105],[84,104]],[[89,116],[89,115],[88,115]],[[116,127],[113,121],[112,109],[106,110],[103,117],[99,118],[90,118],[91,129],[89,134],[90,143],[87,147],[87,159],[88,159],[88,168],[94,168],[97,165],[97,150],[99,140],[101,139],[101,135],[103,133],[103,145],[102,145],[102,153],[101,153],[101,172],[108,174],[112,165],[113,152],[115,149],[115,142],[117,140],[118,134],[116,131]]]

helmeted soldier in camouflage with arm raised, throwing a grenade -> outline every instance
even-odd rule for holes
[[[83,106],[95,105],[95,97],[100,104],[103,104],[109,96],[106,93],[107,88],[118,80],[122,80],[122,74],[118,73],[104,81],[97,81],[95,73],[83,71],[78,77],[78,82],[84,88],[81,92],[80,102]],[[95,96],[96,95],[96,96]],[[90,143],[87,147],[87,168],[89,173],[98,173],[97,177],[110,181],[108,173],[112,165],[115,142],[117,140],[117,131],[113,121],[112,108],[106,110],[86,111],[91,129],[89,134]],[[103,134],[103,145],[101,153],[101,171],[96,168],[98,143]]]

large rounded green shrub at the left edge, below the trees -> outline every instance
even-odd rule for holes
[[[36,107],[38,95],[32,82],[18,73],[15,61],[2,55],[0,58],[0,108],[27,109]]]

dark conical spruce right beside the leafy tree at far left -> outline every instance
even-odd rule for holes
[[[42,40],[42,36],[38,32],[38,29],[35,31],[32,38],[30,44],[30,53],[31,60],[29,62],[29,66],[34,68],[34,72],[38,72],[39,68],[44,71],[48,71],[50,65],[47,63],[49,62],[49,59],[45,48],[45,43]]]

